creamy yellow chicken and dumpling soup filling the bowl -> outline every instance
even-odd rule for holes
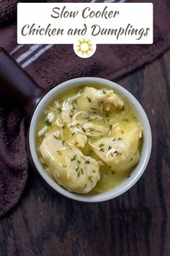
[[[142,127],[130,103],[111,88],[77,88],[55,98],[37,127],[43,168],[71,192],[115,188],[140,160]]]

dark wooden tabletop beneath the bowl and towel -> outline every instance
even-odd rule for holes
[[[53,194],[30,169],[22,199],[0,221],[0,256],[170,255],[170,51],[116,82],[151,121],[145,174],[115,200],[90,204]]]

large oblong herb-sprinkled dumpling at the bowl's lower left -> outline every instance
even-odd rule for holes
[[[40,153],[54,179],[71,192],[88,193],[100,179],[99,163],[95,159],[55,139],[53,134],[42,141]]]

